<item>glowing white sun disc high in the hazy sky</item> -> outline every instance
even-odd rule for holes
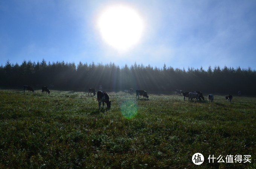
[[[127,51],[138,44],[144,29],[142,17],[128,5],[106,7],[97,26],[102,39],[118,51]]]

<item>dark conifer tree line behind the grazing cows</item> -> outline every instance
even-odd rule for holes
[[[78,65],[67,62],[31,62],[24,60],[21,65],[6,61],[0,67],[0,88],[23,89],[30,85],[34,89],[48,86],[49,89],[88,91],[88,88],[104,91],[123,91],[125,89],[141,89],[148,93],[173,94],[176,89],[184,91],[202,91],[206,94],[256,94],[256,71],[250,67],[220,68],[202,67],[163,68],[137,64],[120,66],[114,63],[82,63]]]

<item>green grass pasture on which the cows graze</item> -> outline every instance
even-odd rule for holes
[[[256,98],[108,94],[99,112],[84,92],[0,90],[0,168],[256,168]]]

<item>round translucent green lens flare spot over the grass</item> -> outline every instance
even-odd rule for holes
[[[138,113],[138,106],[134,101],[124,101],[120,109],[126,119],[134,118]]]

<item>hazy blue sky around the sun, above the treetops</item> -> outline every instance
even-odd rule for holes
[[[120,53],[96,29],[101,10],[123,3],[143,18],[140,42]],[[255,0],[1,0],[0,65],[62,61],[256,69]]]

